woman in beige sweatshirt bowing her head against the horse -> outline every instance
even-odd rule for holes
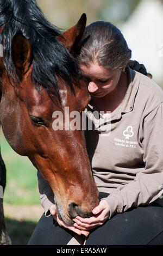
[[[99,114],[100,125],[85,132],[101,201],[93,217],[77,216],[68,227],[38,174],[42,206],[50,216],[41,217],[29,245],[83,244],[86,236],[86,245],[162,245],[163,92],[145,69],[142,75],[129,68],[131,50],[109,22],[86,27],[76,58],[91,94],[87,118],[94,120],[94,110],[111,112]]]

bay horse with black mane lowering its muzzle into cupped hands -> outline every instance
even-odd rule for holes
[[[34,0],[1,0],[0,121],[8,143],[27,156],[54,192],[59,217],[68,225],[91,216],[98,190],[87,156],[84,131],[52,128],[53,112],[68,106],[82,112],[90,101],[71,53],[86,25],[61,34]],[[64,92],[64,101],[61,100]],[[65,118],[70,118],[65,116]],[[1,157],[0,185],[5,188]],[[0,199],[0,243],[9,243]]]

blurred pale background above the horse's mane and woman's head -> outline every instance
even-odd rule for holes
[[[156,82],[163,86],[163,0],[37,0],[46,17],[67,29],[82,13],[87,25],[104,20],[120,28],[132,59],[145,64]]]

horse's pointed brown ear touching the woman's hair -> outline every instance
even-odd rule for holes
[[[86,14],[84,13],[75,26],[69,28],[67,31],[62,33],[62,35],[58,36],[58,39],[66,46],[68,51],[73,52],[77,48],[80,40],[82,39],[85,26]]]

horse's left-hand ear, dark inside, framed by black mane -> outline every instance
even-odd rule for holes
[[[32,47],[30,42],[18,32],[12,39],[12,60],[21,75],[25,74],[31,64]]]

